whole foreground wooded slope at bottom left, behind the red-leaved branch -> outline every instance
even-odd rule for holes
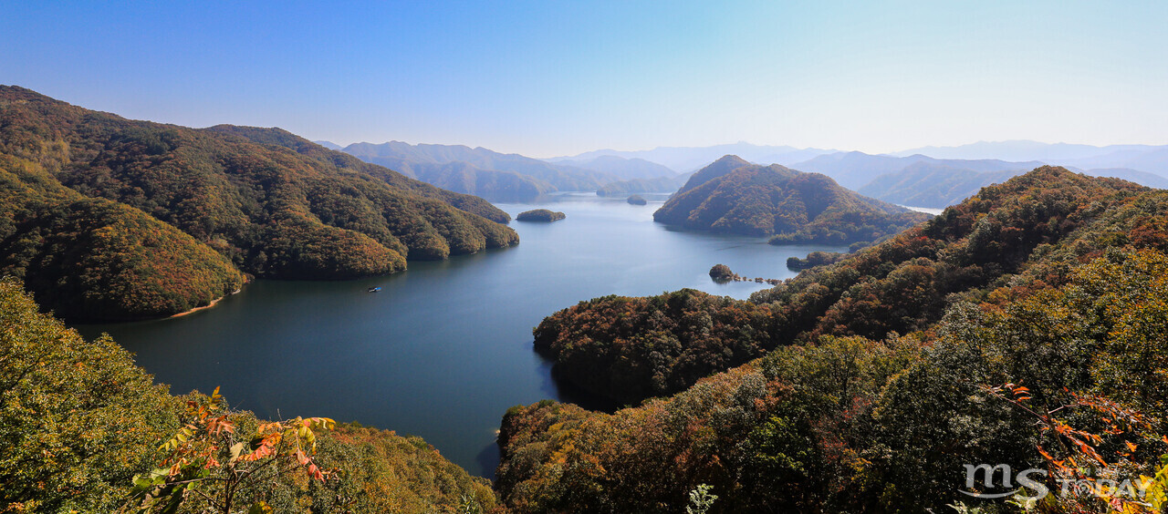
[[[199,422],[186,402],[204,402],[206,395],[169,395],[109,337],[86,342],[37,312],[13,279],[0,280],[0,511],[137,512],[135,476],[157,477],[151,471],[159,467],[167,474],[164,459],[172,456],[164,443],[176,434],[189,443],[208,437],[203,427],[180,432]],[[217,414],[245,437],[263,423],[246,411]],[[488,512],[496,504],[486,479],[471,477],[418,437],[350,424],[318,431],[313,446],[315,465],[336,471],[326,483],[299,470],[269,473],[224,495],[223,474],[211,474],[232,459],[224,446],[199,460],[206,471],[193,478],[208,480],[190,487],[182,509],[148,512],[208,512],[195,507],[204,497],[234,498],[231,512],[259,500],[279,513]]]

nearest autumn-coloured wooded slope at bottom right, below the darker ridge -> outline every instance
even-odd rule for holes
[[[1066,448],[987,394],[1003,383],[1099,435],[1086,439],[1099,467],[1154,474],[1168,452],[1166,272],[1159,251],[1112,249],[1062,287],[955,304],[931,336],[823,336],[612,415],[514,408],[498,488],[517,512],[676,512],[700,484],[719,497],[711,512],[940,512],[964,498],[965,463],[1045,469],[1040,448]],[[1146,427],[1090,404],[1134,409]],[[1108,512],[1094,508],[1083,512]]]

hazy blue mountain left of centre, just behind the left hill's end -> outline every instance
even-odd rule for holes
[[[550,191],[595,191],[626,178],[617,172],[456,145],[353,143],[345,152],[426,183],[496,202],[529,202]]]

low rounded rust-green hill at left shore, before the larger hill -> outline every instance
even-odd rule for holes
[[[33,212],[18,225],[0,263],[60,316],[166,316],[243,286],[225,258],[127,205],[83,198]]]

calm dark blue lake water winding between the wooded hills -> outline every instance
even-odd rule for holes
[[[839,247],[770,246],[765,239],[679,232],[648,205],[564,193],[499,204],[514,217],[563,211],[551,224],[512,221],[521,244],[405,273],[345,282],[258,281],[213,309],[141,323],[82,325],[109,332],[172,393],[216,386],[262,417],[326,416],[422,436],[472,473],[493,477],[495,430],[507,408],[562,390],[531,350],[531,329],[556,310],[610,294],[681,288],[745,298],[765,284],[714,283],[724,263],[785,279],[788,256]],[[380,293],[366,288],[380,286]]]

